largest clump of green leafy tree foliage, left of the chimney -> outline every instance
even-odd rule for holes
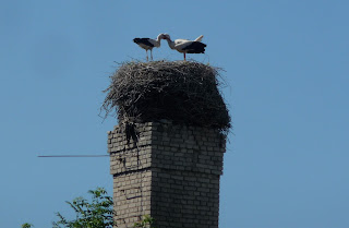
[[[75,211],[75,219],[69,220],[60,213],[53,228],[111,228],[113,224],[112,197],[103,188],[89,190],[92,202],[84,197],[76,197],[67,203]]]

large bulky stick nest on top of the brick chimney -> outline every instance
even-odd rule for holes
[[[105,91],[103,109],[119,122],[161,119],[228,131],[227,106],[219,93],[219,69],[198,62],[125,62]]]

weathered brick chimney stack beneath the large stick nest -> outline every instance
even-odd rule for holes
[[[136,130],[136,143],[123,127],[108,132],[117,226],[133,227],[147,214],[157,228],[217,228],[225,136],[170,121]]]

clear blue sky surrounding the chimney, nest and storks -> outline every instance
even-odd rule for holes
[[[349,1],[12,0],[0,2],[0,227],[51,227],[64,203],[105,187],[117,121],[98,117],[134,37],[204,35],[221,67],[233,134],[220,228],[349,227]],[[181,60],[166,43],[156,60]]]

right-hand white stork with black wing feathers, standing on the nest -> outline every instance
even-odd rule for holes
[[[171,40],[170,35],[165,34],[164,39],[167,40],[168,46],[171,49],[174,49],[181,53],[184,53],[184,61],[185,53],[204,53],[206,45],[201,43],[204,36],[201,35],[195,40],[188,40],[188,39],[176,39],[174,41]]]

